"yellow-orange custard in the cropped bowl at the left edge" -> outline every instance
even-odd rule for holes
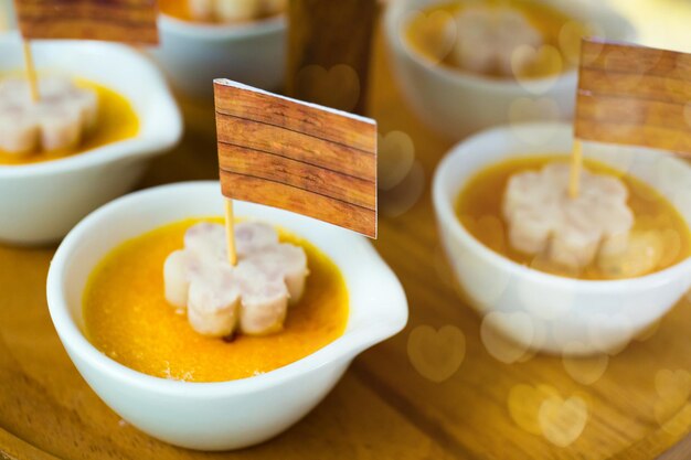
[[[86,138],[79,143],[78,148],[70,151],[41,151],[30,156],[18,156],[0,150],[0,164],[17,165],[57,160],[137,136],[137,132],[139,132],[139,119],[135,109],[125,97],[113,89],[87,79],[78,78],[75,81],[75,84],[83,88],[89,88],[98,95],[96,127],[86,133]]]

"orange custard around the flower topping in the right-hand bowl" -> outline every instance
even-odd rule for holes
[[[508,226],[502,217],[501,203],[509,178],[528,170],[540,170],[549,162],[567,162],[568,157],[529,157],[511,159],[491,165],[468,181],[456,201],[456,213],[460,223],[480,243],[511,260],[553,275],[573,278],[603,280],[612,279],[600,270],[596,261],[581,272],[566,272],[551,265],[540,256],[520,253],[511,247]],[[628,189],[628,206],[634,212],[631,232],[658,232],[662,242],[661,257],[652,271],[676,265],[691,254],[689,227],[672,204],[644,182],[623,174],[603,163],[584,160],[592,172],[612,174],[619,178]]]

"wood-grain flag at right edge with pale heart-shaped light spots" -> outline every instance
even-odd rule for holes
[[[575,136],[691,157],[691,54],[584,40]]]

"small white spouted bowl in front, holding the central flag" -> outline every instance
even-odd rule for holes
[[[287,429],[311,410],[363,350],[407,321],[395,275],[361,236],[283,210],[235,202],[236,213],[274,223],[309,239],[341,269],[350,312],[342,336],[278,370],[223,383],[187,383],[132,371],[84,336],[82,297],[88,276],[120,243],[168,223],[223,214],[217,182],[189,182],[137,192],[81,222],[55,254],[47,302],[67,353],[113,410],[142,431],[192,449],[237,449]]]

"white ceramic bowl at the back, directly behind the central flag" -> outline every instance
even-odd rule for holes
[[[161,43],[150,50],[173,87],[193,99],[213,98],[213,79],[278,89],[286,66],[286,17],[245,24],[204,24],[159,15]]]

